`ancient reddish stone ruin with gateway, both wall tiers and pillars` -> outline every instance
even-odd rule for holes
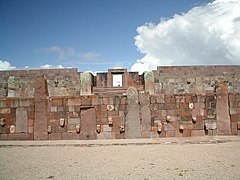
[[[240,134],[240,66],[0,72],[0,140]]]

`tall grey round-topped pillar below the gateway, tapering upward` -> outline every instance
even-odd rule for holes
[[[131,86],[127,89],[125,138],[133,139],[141,137],[139,109],[137,89]]]

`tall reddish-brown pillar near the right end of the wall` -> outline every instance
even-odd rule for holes
[[[229,135],[231,134],[231,124],[228,105],[228,84],[221,82],[217,89],[217,134]]]

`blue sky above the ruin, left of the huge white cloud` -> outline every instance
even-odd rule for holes
[[[16,68],[48,64],[77,67],[79,71],[118,66],[130,70],[148,53],[136,40],[142,33],[139,27],[152,23],[156,28],[160,19],[168,22],[175,14],[210,2],[0,0],[0,60]]]

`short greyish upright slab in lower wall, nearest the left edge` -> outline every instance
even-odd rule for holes
[[[18,107],[16,110],[16,132],[27,133],[28,132],[28,116],[27,110],[23,107]]]

